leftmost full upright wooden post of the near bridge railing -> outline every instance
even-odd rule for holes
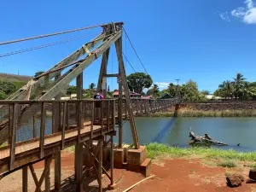
[[[13,170],[15,164],[15,144],[16,144],[16,129],[17,129],[17,120],[18,120],[18,113],[17,113],[18,104],[15,103],[13,105],[12,110],[12,127],[11,127],[11,139],[10,139],[10,150],[9,150],[9,171]]]

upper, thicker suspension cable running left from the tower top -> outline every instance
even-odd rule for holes
[[[99,26],[106,26],[106,25],[105,24],[100,24],[100,25],[96,25],[96,26],[86,26],[86,27],[82,27],[82,28],[79,28],[79,29],[72,29],[72,30],[68,30],[68,31],[64,31],[64,32],[54,32],[54,33],[49,33],[49,34],[46,34],[46,35],[35,36],[35,37],[32,37],[32,38],[20,38],[20,39],[16,39],[16,40],[12,40],[12,41],[2,42],[2,43],[0,43],[0,45],[14,44],[14,43],[18,43],[18,42],[21,42],[21,41],[28,41],[28,40],[32,40],[32,39],[36,39],[36,38],[48,38],[48,37],[55,36],[55,35],[61,35],[61,34],[69,33],[69,32],[79,32],[79,31],[82,31],[82,30],[85,30],[85,29],[96,28],[96,27],[99,27]]]

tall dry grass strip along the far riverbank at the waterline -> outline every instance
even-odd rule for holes
[[[256,117],[256,110],[224,110],[224,111],[196,111],[178,110],[175,112],[150,113],[148,117]]]

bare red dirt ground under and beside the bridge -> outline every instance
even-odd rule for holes
[[[72,153],[62,153],[62,174],[61,179],[66,179],[73,175],[73,162],[74,157]],[[208,161],[207,161],[208,162]],[[225,174],[227,172],[239,172],[247,177],[248,168],[223,168],[216,166],[206,166],[206,161],[200,159],[187,160],[187,159],[157,159],[153,161],[152,174],[155,176],[147,181],[140,183],[130,191],[146,192],[146,191],[248,191],[256,192],[256,183],[247,184],[242,183],[238,188],[229,188],[226,186]],[[208,162],[207,165],[210,163]],[[42,172],[44,163],[36,164],[35,169],[38,176]],[[53,167],[53,165],[52,165]],[[54,169],[51,169],[51,184],[54,177]],[[29,174],[29,191],[33,191],[34,183],[31,174]],[[128,172],[125,170],[114,170],[114,181],[117,182],[116,189],[113,191],[123,191],[129,188],[134,183],[142,180],[144,177],[140,173]],[[64,191],[74,191],[74,184],[68,184],[63,187]],[[107,190],[108,177],[103,177],[103,187]],[[84,183],[86,191],[97,191],[97,183],[95,179],[87,180]],[[44,189],[44,186],[43,188]],[[15,172],[8,177],[4,177],[0,181],[0,191],[21,191],[21,172]]]

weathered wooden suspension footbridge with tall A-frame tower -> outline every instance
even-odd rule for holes
[[[102,191],[102,172],[113,183],[113,137],[116,125],[119,131],[119,148],[123,143],[124,120],[129,120],[134,147],[140,148],[135,115],[164,111],[176,105],[179,99],[131,99],[126,82],[122,57],[123,23],[102,26],[102,33],[84,44],[55,67],[29,81],[5,101],[0,102],[0,178],[22,169],[22,189],[27,191],[28,170],[35,183],[35,191],[50,190],[49,165],[55,160],[55,191],[61,190],[61,150],[75,146],[75,183],[83,191],[83,181],[90,169],[96,171],[99,191]],[[42,36],[41,36],[42,37]],[[22,39],[23,41],[24,39]],[[119,61],[119,73],[107,74],[111,45]],[[83,59],[79,58],[84,55]],[[119,98],[83,100],[83,71],[102,55],[97,89],[106,96],[106,78],[119,78]],[[66,67],[72,66],[66,73]],[[52,80],[53,79],[53,80]],[[76,79],[77,100],[61,101],[61,90]],[[44,87],[44,90],[40,89]],[[122,93],[125,92],[125,98]],[[105,97],[106,98],[106,97]],[[54,99],[54,100],[53,100]],[[27,127],[31,129],[27,129]],[[21,139],[20,139],[21,138]],[[96,147],[92,142],[97,141]],[[3,145],[2,145],[3,146]],[[110,147],[110,173],[102,166],[102,148]],[[90,152],[90,164],[84,165],[84,149]],[[33,164],[44,160],[44,171],[37,177]],[[1,186],[1,180],[0,180]]]

